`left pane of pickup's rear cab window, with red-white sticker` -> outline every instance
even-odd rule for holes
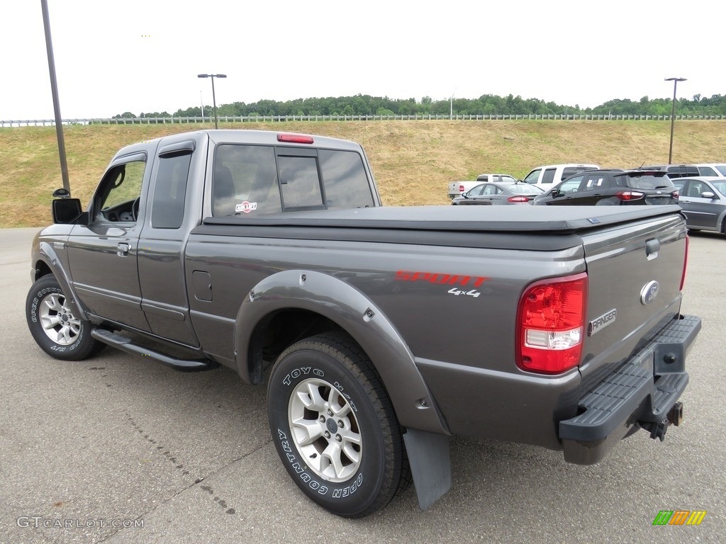
[[[274,148],[221,144],[214,150],[212,215],[282,211]]]

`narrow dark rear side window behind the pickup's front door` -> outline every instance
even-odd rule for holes
[[[159,158],[151,204],[153,228],[179,228],[184,220],[184,199],[192,154]]]

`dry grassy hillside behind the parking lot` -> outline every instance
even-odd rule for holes
[[[70,125],[64,127],[70,189],[89,201],[113,154],[126,144],[213,125]],[[539,165],[594,162],[630,168],[668,162],[664,121],[350,121],[224,123],[358,141],[386,205],[447,205],[449,181],[502,172],[521,178]],[[725,120],[677,120],[673,161],[726,162]],[[54,127],[0,128],[0,228],[50,222],[62,187]]]

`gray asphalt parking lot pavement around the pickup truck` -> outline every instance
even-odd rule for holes
[[[726,238],[693,234],[682,310],[703,318],[685,422],[602,463],[486,440],[452,441],[452,490],[413,489],[366,519],[307,500],[274,450],[265,391],[229,370],[180,374],[107,349],[49,358],[25,294],[37,229],[0,231],[0,543],[726,542]],[[659,511],[706,511],[654,526]]]

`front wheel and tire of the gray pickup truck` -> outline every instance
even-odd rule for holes
[[[81,360],[105,347],[91,337],[91,322],[73,315],[54,276],[43,276],[30,288],[25,318],[36,344],[53,358]]]

